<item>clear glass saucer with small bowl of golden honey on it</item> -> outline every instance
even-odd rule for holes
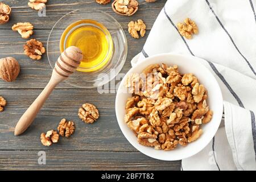
[[[47,56],[53,69],[69,46],[81,49],[83,59],[65,82],[79,88],[95,88],[121,71],[127,56],[127,40],[121,25],[100,10],[74,10],[53,26],[47,41]]]

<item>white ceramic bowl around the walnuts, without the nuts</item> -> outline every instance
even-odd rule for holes
[[[141,63],[135,65],[135,67],[131,68],[121,81],[117,91],[117,97],[115,99],[115,113],[117,115],[117,121],[126,139],[143,154],[160,160],[181,160],[195,155],[203,150],[203,148],[207,146],[210,140],[212,140],[214,137],[222,118],[222,94],[216,79],[208,68],[201,64],[200,61],[205,60],[194,56],[177,55],[172,53],[155,55],[146,58],[145,60],[141,61]],[[176,64],[178,65],[181,73],[193,73],[197,78],[199,78],[200,83],[203,84],[208,90],[207,104],[209,105],[210,109],[213,110],[212,120],[209,123],[201,126],[203,129],[203,134],[199,139],[197,139],[195,142],[188,143],[188,145],[185,147],[178,145],[175,150],[171,151],[155,150],[153,147],[142,146],[137,142],[137,137],[133,131],[129,129],[123,119],[125,117],[126,100],[127,98],[131,97],[131,94],[125,93],[126,89],[124,82],[127,75],[130,73],[142,73],[143,69],[148,65],[156,63],[166,63],[167,65]]]

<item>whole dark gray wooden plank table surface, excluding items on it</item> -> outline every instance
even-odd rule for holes
[[[34,24],[32,38],[43,42],[46,47],[49,32],[61,16],[80,8],[100,9],[114,16],[121,23],[128,41],[128,55],[121,73],[130,68],[130,60],[141,51],[150,29],[166,1],[155,3],[139,1],[139,10],[133,16],[121,16],[113,12],[111,5],[99,5],[94,0],[49,0],[46,17],[39,17],[37,11],[27,6],[28,1],[5,0],[12,9],[11,20],[0,26],[0,57],[13,56],[20,64],[19,77],[14,82],[0,80],[0,96],[7,100],[5,111],[0,113],[0,169],[130,169],[130,170],[179,170],[180,161],[164,162],[151,159],[137,151],[123,136],[115,118],[115,93],[100,94],[95,89],[79,89],[61,83],[46,101],[34,123],[19,137],[14,136],[16,122],[32,101],[46,86],[52,70],[47,54],[43,59],[33,61],[23,54],[26,42],[11,26],[18,22]],[[147,25],[146,36],[133,39],[127,31],[130,20],[143,19]],[[100,119],[93,125],[82,122],[77,110],[85,102],[100,110]],[[45,147],[40,134],[55,129],[61,118],[72,119],[75,133],[60,138],[59,143]],[[46,165],[38,163],[38,152],[46,152]]]

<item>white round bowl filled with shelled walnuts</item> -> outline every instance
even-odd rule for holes
[[[220,126],[220,86],[194,56],[148,57],[122,79],[115,113],[126,139],[143,154],[181,160],[197,154]]]

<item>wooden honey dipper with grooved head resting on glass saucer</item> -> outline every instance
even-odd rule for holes
[[[28,107],[27,111],[19,119],[19,122],[15,127],[14,135],[20,135],[27,130],[28,126],[30,126],[34,121],[36,115],[44,105],[44,102],[47,100],[52,90],[57,86],[57,84],[66,80],[73,72],[76,71],[81,60],[82,51],[75,46],[68,47],[63,53],[61,53],[55,63],[55,68],[52,71],[51,79],[46,85],[46,88],[44,88],[38,98],[36,98],[36,100],[30,107]]]

